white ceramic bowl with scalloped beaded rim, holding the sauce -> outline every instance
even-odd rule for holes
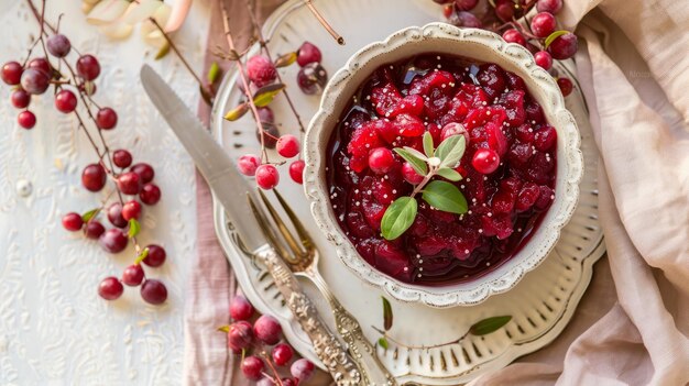
[[[367,263],[338,224],[326,183],[326,146],[337,121],[354,93],[381,65],[416,54],[433,52],[461,55],[495,63],[521,76],[532,96],[540,103],[547,121],[556,128],[557,179],[555,200],[545,218],[522,250],[494,271],[471,282],[428,287],[394,279]],[[580,137],[572,115],[565,108],[562,95],[553,77],[538,67],[532,54],[517,44],[507,44],[499,35],[483,30],[458,29],[445,23],[398,31],[384,42],[372,43],[357,52],[331,78],[320,109],[305,137],[304,188],[318,227],[335,245],[338,256],[363,282],[384,289],[401,301],[418,301],[431,307],[475,305],[493,294],[513,288],[550,253],[569,221],[579,198],[583,172]]]

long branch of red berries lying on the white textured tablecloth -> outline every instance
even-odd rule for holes
[[[32,129],[36,124],[35,114],[28,110],[31,98],[45,93],[52,85],[55,109],[65,114],[74,114],[79,131],[85,133],[97,154],[97,161],[84,168],[81,184],[87,190],[97,192],[111,180],[114,189],[110,196],[114,194],[117,197],[106,210],[112,229],[106,230],[98,221],[105,205],[84,214],[65,214],[62,219],[63,227],[72,232],[83,231],[87,239],[98,240],[101,247],[109,253],[122,252],[131,240],[138,256],[135,264],[124,269],[121,279],[105,278],[98,287],[98,294],[103,299],[112,300],[122,295],[122,283],[128,286],[141,285],[142,298],[149,304],[160,305],[167,298],[167,290],[161,282],[145,279],[140,263],[151,267],[160,266],[165,261],[165,250],[158,245],[142,249],[136,243],[136,234],[141,229],[139,218],[142,203],[152,206],[161,199],[161,189],[153,184],[155,172],[145,163],[132,165],[133,157],[129,151],[111,152],[108,147],[103,132],[117,126],[118,114],[113,109],[100,107],[91,99],[96,92],[94,81],[101,73],[98,59],[92,55],[79,54],[65,35],[44,20],[43,14],[39,14],[35,9],[34,14],[41,31],[31,45],[26,59],[23,64],[8,62],[0,73],[2,80],[14,87],[11,102],[22,109],[18,122],[24,129]],[[41,47],[45,56],[32,57],[36,47]],[[73,52],[76,53],[75,62],[68,60]],[[88,117],[92,122],[90,129],[83,117]],[[91,134],[91,131],[96,134]],[[127,196],[130,197],[125,199]]]

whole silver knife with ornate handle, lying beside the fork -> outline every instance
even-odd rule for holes
[[[141,81],[153,104],[192,155],[215,198],[232,220],[245,247],[265,263],[275,285],[335,382],[342,386],[361,385],[359,367],[328,330],[310,299],[302,290],[299,282],[263,236],[254,213],[242,197],[253,197],[254,188],[249,186],[229,155],[175,91],[147,65],[141,68]]]

